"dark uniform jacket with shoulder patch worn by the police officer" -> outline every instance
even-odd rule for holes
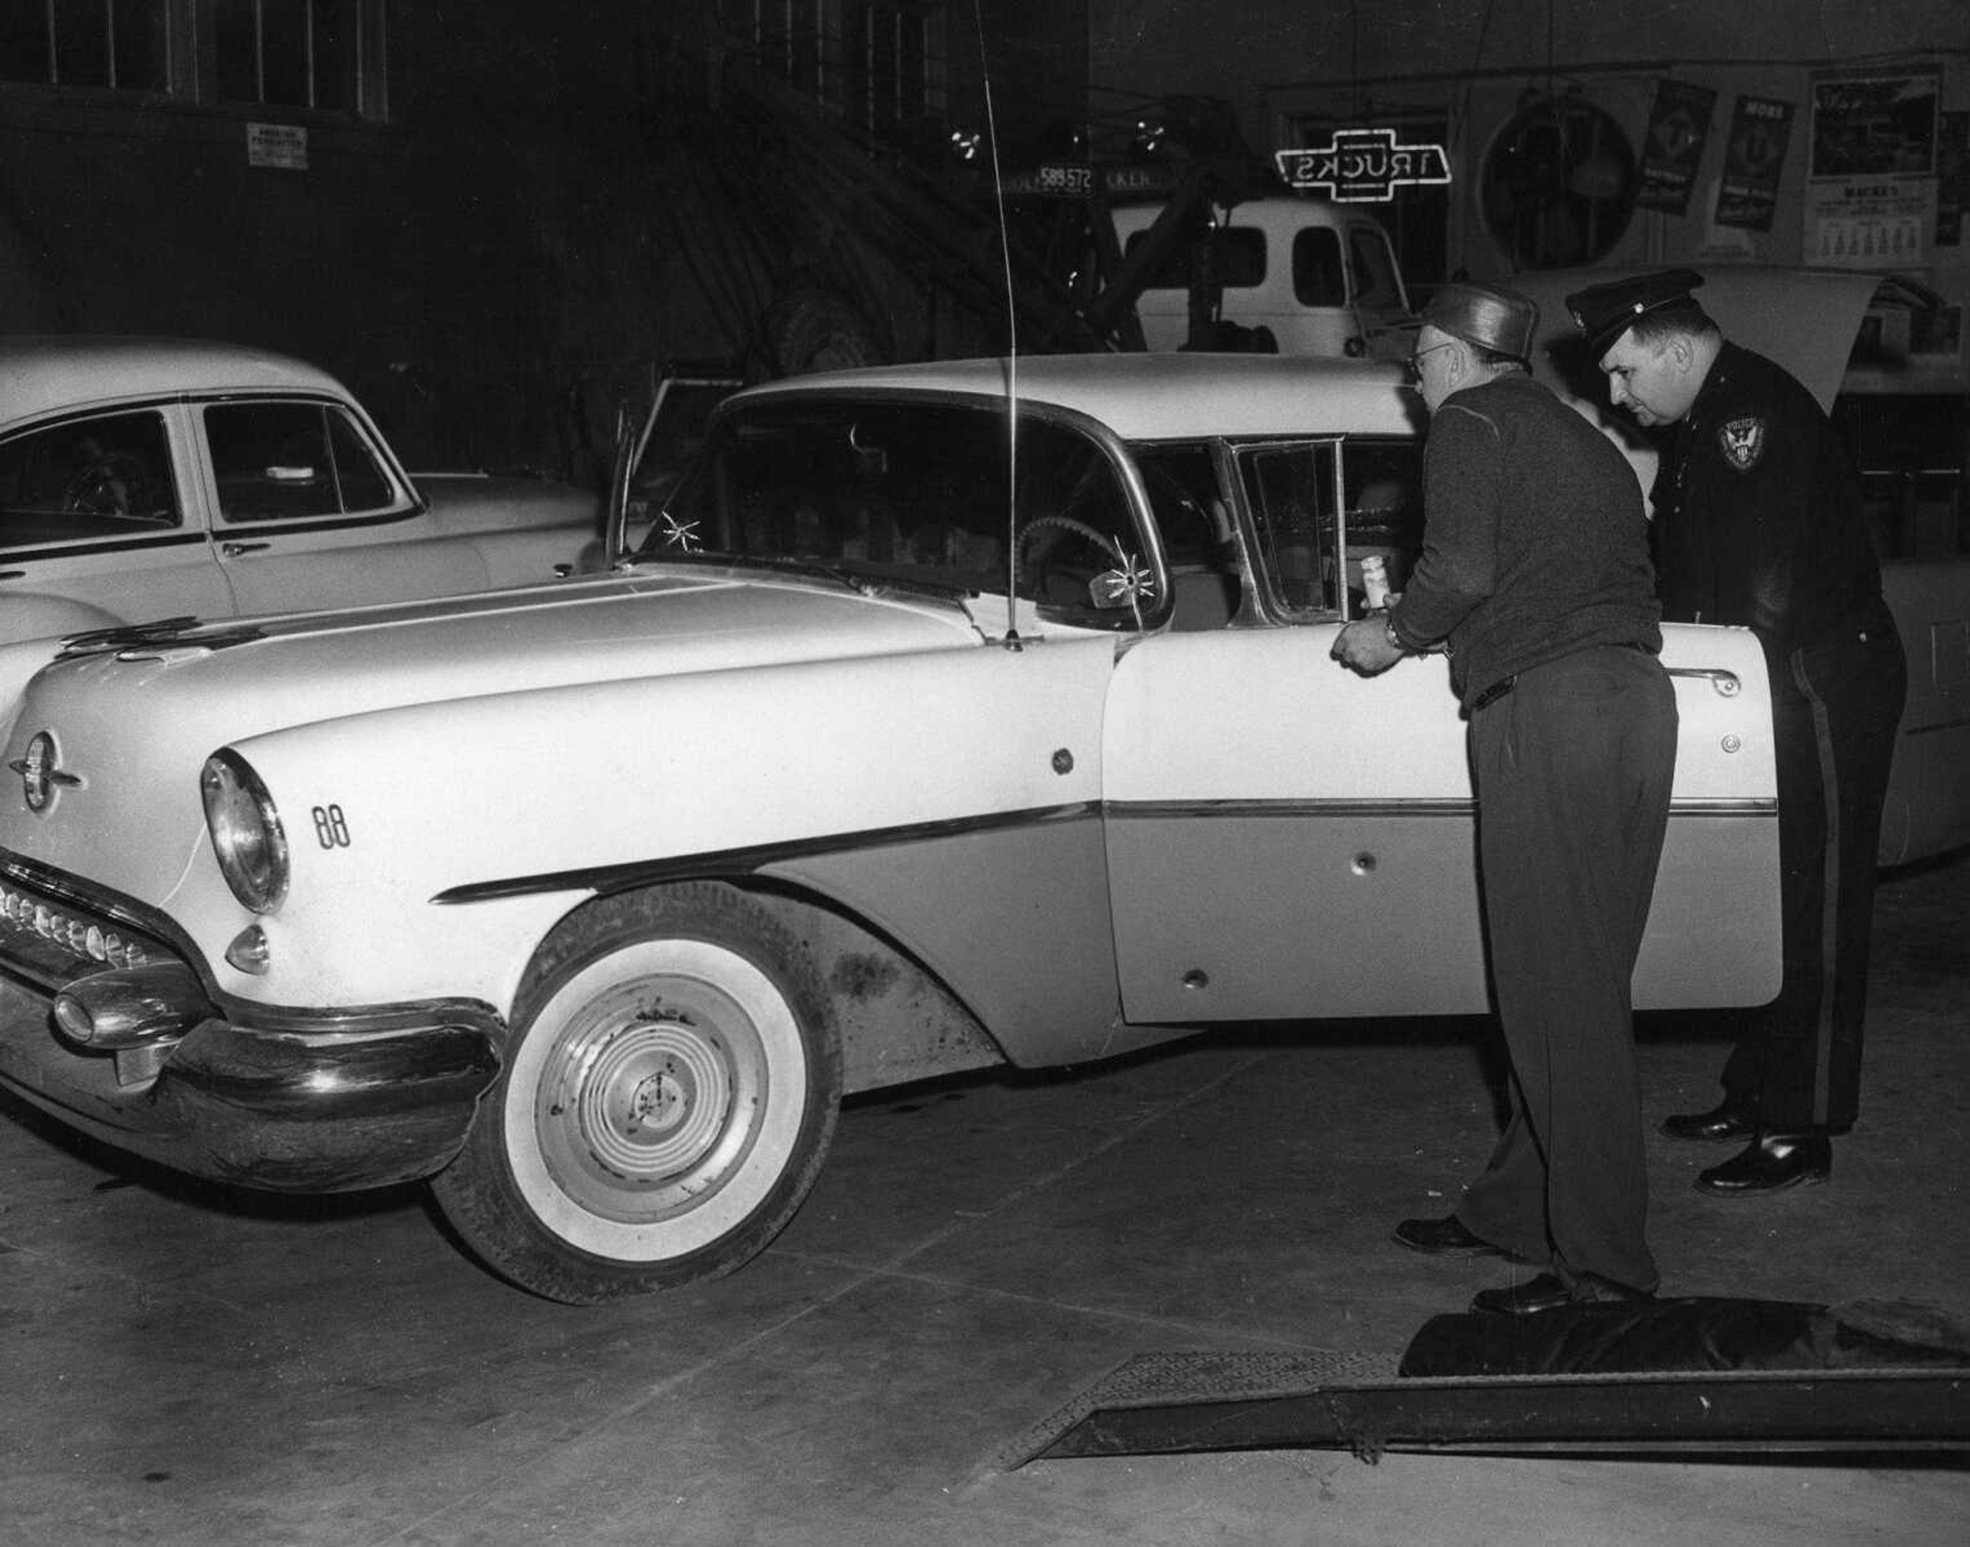
[[[1799,380],[1734,343],[1676,426],[1653,536],[1673,623],[1743,623],[1785,654],[1881,613],[1852,455]]]

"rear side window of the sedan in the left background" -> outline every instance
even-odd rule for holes
[[[327,404],[213,404],[205,439],[229,522],[361,514],[394,503],[368,439]]]

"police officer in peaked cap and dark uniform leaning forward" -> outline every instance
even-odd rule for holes
[[[1860,473],[1812,394],[1730,343],[1688,268],[1566,298],[1608,394],[1674,426],[1655,481],[1663,617],[1741,623],[1765,646],[1779,773],[1785,983],[1743,1017],[1710,1111],[1674,1139],[1747,1141],[1698,1175],[1761,1194],[1832,1175],[1860,1106],[1881,798],[1907,662],[1881,601]]]

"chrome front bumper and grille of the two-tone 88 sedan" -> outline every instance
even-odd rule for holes
[[[498,1076],[504,1027],[479,1001],[274,1009],[203,981],[167,920],[0,859],[0,1086],[95,1139],[238,1186],[349,1192],[441,1171]],[[63,1037],[57,997],[108,1039]]]

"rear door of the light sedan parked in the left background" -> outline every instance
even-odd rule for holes
[[[368,428],[317,398],[201,404],[213,538],[242,613],[483,589],[469,536],[441,536]]]

